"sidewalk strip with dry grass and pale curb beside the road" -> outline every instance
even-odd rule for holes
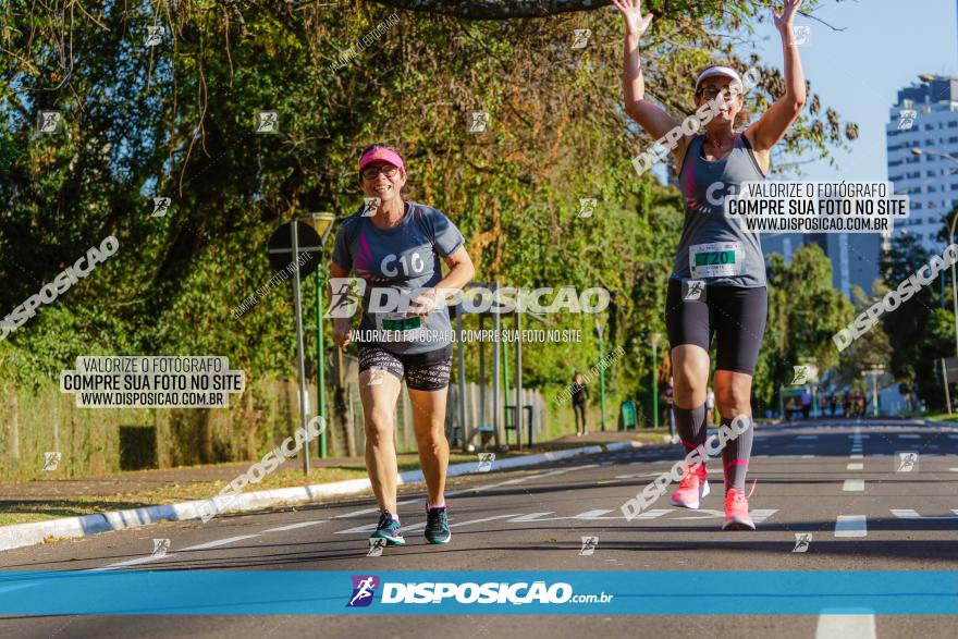
[[[567,435],[533,448],[496,454],[492,470],[532,466],[552,459],[626,446],[662,444],[652,432],[600,432]],[[478,453],[453,452],[450,477],[475,472]],[[82,479],[0,483],[0,550],[59,537],[79,537],[162,519],[198,517],[197,505],[214,497],[255,462],[137,470]],[[400,482],[421,481],[418,455],[398,459]],[[236,509],[248,511],[369,490],[363,457],[315,459],[309,476],[302,459],[291,459],[244,490]],[[231,508],[232,509],[232,508]],[[222,516],[222,515],[221,515]],[[62,518],[67,519],[62,519]]]

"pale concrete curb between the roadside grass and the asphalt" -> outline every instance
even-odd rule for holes
[[[512,457],[493,462],[494,470],[504,470],[509,468],[520,468],[524,466],[535,466],[545,462],[555,462],[568,457],[579,455],[593,455],[603,451],[615,452],[626,448],[641,447],[641,442],[616,442],[605,445],[580,446],[578,448],[569,448],[566,451],[553,451],[549,453],[539,453],[537,455],[528,455],[525,457]],[[478,474],[478,464],[464,463],[453,464],[449,467],[447,477],[457,477],[462,475]],[[397,477],[398,483],[415,483],[422,481],[421,470],[410,470],[400,472]],[[323,497],[343,496],[360,493],[369,490],[371,484],[369,479],[348,479],[345,481],[334,481],[332,483],[317,483],[312,486],[302,486],[295,488],[279,488],[273,490],[262,490],[250,493],[243,493],[238,496],[231,497],[226,512],[256,511],[267,506],[300,504],[314,502]],[[221,500],[222,497],[211,497]],[[143,508],[131,508],[127,511],[114,511],[111,513],[98,513],[95,515],[81,515],[77,517],[65,517],[63,519],[50,519],[47,521],[33,521],[29,524],[14,524],[12,526],[0,527],[0,551],[13,550],[25,545],[40,543],[48,537],[56,538],[76,538],[90,537],[101,532],[111,530],[124,530],[127,528],[139,528],[159,521],[183,521],[187,519],[200,518],[200,505],[208,503],[209,500],[198,500],[192,502],[182,502],[165,506],[146,506]],[[218,502],[219,503],[219,502]],[[225,504],[226,502],[224,502]]]

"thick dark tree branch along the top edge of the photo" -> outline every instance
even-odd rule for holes
[[[466,20],[544,17],[572,11],[590,11],[612,4],[612,0],[374,0],[379,4],[444,13]]]

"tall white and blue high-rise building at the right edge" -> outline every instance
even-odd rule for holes
[[[894,235],[907,232],[941,253],[943,218],[958,204],[958,77],[919,81],[898,91],[885,125],[888,181],[910,200],[910,216],[895,222]]]

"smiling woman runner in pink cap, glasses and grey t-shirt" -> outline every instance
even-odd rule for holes
[[[357,342],[366,468],[380,509],[370,539],[384,539],[389,545],[406,543],[396,512],[393,435],[403,381],[413,406],[413,429],[428,493],[426,540],[449,543],[452,538],[444,496],[446,394],[452,368],[446,297],[476,272],[455,224],[437,209],[403,196],[407,177],[406,164],[395,149],[379,144],[363,151],[358,179],[369,204],[340,224],[330,265],[331,309],[343,306],[340,303],[348,297],[348,286],[337,287],[336,280],[355,273],[365,284],[359,323],[363,337],[353,339],[352,318],[333,316],[333,340],[341,348]],[[373,294],[382,299],[386,290],[391,295],[398,293],[400,305],[382,310],[371,300]]]

